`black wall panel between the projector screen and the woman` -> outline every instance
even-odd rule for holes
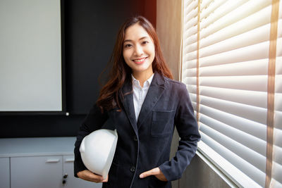
[[[67,104],[71,113],[87,113],[96,101],[97,80],[109,61],[119,26],[125,18],[142,14],[144,9],[144,5],[135,3],[130,0],[66,3]]]

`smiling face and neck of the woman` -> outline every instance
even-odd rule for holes
[[[154,42],[146,30],[135,23],[125,30],[123,58],[133,70],[133,75],[152,75],[154,61]]]

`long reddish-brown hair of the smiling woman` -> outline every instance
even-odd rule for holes
[[[155,57],[154,61],[152,62],[153,72],[157,72],[171,79],[173,78],[171,71],[168,69],[166,62],[164,61],[164,56],[161,53],[161,48],[159,46],[159,39],[152,24],[142,16],[129,18],[125,21],[125,23],[123,23],[123,25],[121,25],[121,28],[118,31],[114,51],[109,60],[109,63],[112,64],[111,71],[109,73],[109,81],[106,82],[99,93],[97,106],[99,106],[102,111],[110,110],[115,107],[121,109],[121,101],[118,99],[118,93],[123,96],[121,93],[121,87],[123,87],[125,81],[131,80],[132,73],[131,68],[125,63],[123,58],[125,30],[136,23],[142,26],[153,39],[155,49]]]

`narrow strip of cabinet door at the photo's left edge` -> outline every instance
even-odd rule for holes
[[[0,187],[10,187],[10,160],[8,157],[0,158]]]

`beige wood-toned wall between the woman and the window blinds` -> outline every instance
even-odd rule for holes
[[[181,0],[157,0],[157,34],[161,49],[175,80],[180,77],[181,51]],[[171,157],[177,151],[178,134],[173,135]],[[229,187],[202,158],[195,156],[173,188]]]

